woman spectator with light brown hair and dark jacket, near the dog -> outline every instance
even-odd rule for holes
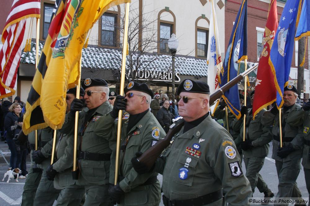
[[[11,150],[10,167],[12,170],[16,168],[17,151],[15,143],[13,142],[14,131],[12,131],[11,126],[15,125],[15,122],[18,121],[20,116],[22,116],[20,104],[13,103],[9,107],[9,113],[7,113],[7,116],[4,119],[4,128],[7,132],[7,144]]]

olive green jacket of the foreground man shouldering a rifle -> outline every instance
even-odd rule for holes
[[[252,195],[250,183],[227,130],[210,115],[187,132],[183,129],[163,153],[166,161],[160,158],[155,165],[155,170],[163,174],[164,195],[170,200],[187,200],[223,188],[229,205],[246,205]],[[208,205],[224,205],[222,201]]]

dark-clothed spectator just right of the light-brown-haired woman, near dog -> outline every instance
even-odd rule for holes
[[[23,125],[23,116],[20,116],[15,122],[15,125],[11,126],[11,130],[12,132],[14,132],[14,138],[13,138],[14,142],[17,140],[17,136],[20,130],[22,129],[22,125]],[[18,177],[19,179],[25,179],[28,174],[26,166],[26,158],[28,155],[28,144],[29,144],[28,141],[25,141],[23,144],[15,144],[17,152],[16,167],[20,168],[20,170],[22,171],[21,175]]]

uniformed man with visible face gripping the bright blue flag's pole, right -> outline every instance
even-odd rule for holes
[[[295,126],[286,124],[290,112],[298,110],[301,107],[296,103],[296,99],[296,88],[292,85],[286,86],[283,93],[284,104],[281,108],[282,148],[280,148],[279,110],[277,106],[263,113],[262,123],[265,126],[273,125],[272,158],[276,161],[279,179],[276,197],[292,197],[294,199],[299,199],[301,197],[301,191],[297,187],[296,179],[301,169],[303,125],[302,123]]]

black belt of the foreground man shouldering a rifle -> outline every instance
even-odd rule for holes
[[[191,205],[191,206],[201,206],[205,204],[213,203],[217,200],[223,198],[223,191],[222,189],[197,197],[189,200],[169,200],[166,198],[165,195],[162,195],[162,201],[165,206],[184,206],[184,205]]]

